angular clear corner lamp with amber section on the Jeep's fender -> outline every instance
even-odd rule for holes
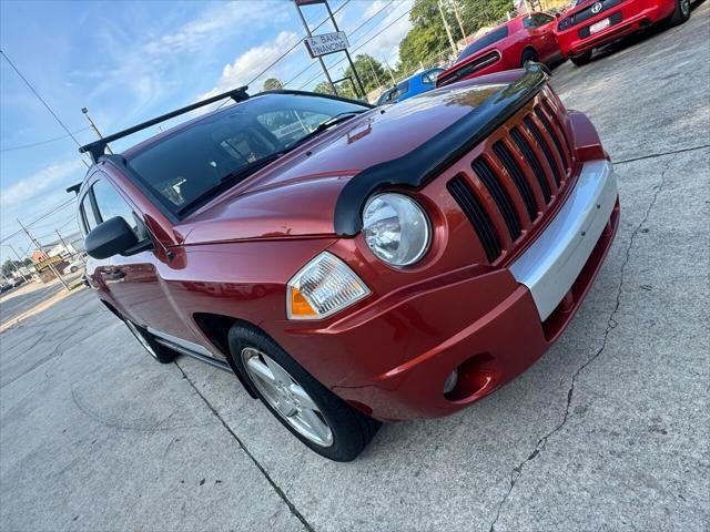
[[[369,288],[339,258],[323,252],[288,282],[288,319],[321,319],[369,295]]]

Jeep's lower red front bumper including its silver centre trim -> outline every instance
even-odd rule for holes
[[[585,163],[565,205],[509,268],[453,272],[327,329],[302,332],[314,351],[339,352],[351,367],[358,361],[331,389],[371,416],[397,421],[453,413],[549,348],[590,288],[618,218],[611,164]],[[458,385],[445,397],[455,368]]]

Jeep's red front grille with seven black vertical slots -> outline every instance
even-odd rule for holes
[[[489,263],[509,254],[551,208],[570,175],[574,155],[566,127],[547,95],[464,157],[447,183]]]

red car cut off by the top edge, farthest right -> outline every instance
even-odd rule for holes
[[[657,22],[671,25],[690,18],[690,0],[582,0],[566,12],[555,34],[566,58],[580,66],[595,48]]]

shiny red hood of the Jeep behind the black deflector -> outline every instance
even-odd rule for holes
[[[519,75],[481,76],[373,109],[314,137],[175,227],[183,245],[332,236],[343,186],[406,155]]]

